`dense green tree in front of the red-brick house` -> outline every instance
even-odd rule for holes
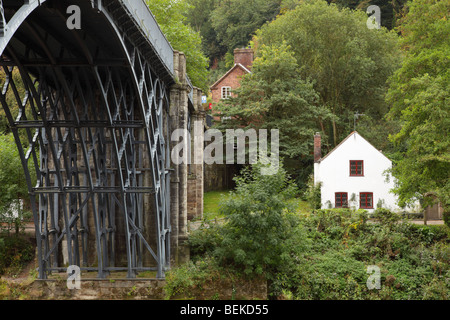
[[[318,105],[313,84],[302,80],[299,72],[297,59],[285,43],[263,45],[235,96],[217,106],[222,116],[230,117],[219,128],[278,129],[281,156],[308,156],[318,119],[329,114]]]

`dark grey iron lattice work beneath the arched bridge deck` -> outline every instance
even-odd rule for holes
[[[168,89],[108,9],[115,59],[86,33],[69,41],[37,15],[1,56],[0,102],[29,186],[41,279],[68,265],[99,278],[162,278],[169,267]]]

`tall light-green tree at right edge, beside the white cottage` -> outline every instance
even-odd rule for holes
[[[400,24],[403,64],[391,77],[389,118],[401,122],[391,139],[403,146],[393,168],[401,204],[433,192],[450,207],[449,1],[416,0]],[[425,202],[424,205],[429,203]]]

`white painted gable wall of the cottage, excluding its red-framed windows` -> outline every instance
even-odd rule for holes
[[[364,176],[350,176],[350,160],[364,161]],[[322,182],[322,208],[328,208],[328,201],[335,207],[335,192],[347,192],[349,207],[359,208],[360,192],[373,193],[374,209],[381,199],[383,208],[393,211],[403,211],[397,206],[397,197],[390,192],[394,180],[386,181],[385,171],[391,168],[392,162],[373,147],[359,133],[353,132],[331,153],[314,164],[314,181]],[[351,202],[352,194],[355,201]],[[411,210],[409,210],[411,211]]]

